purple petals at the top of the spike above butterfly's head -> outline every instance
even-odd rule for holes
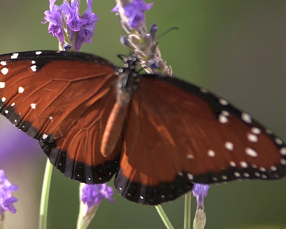
[[[119,12],[120,3],[112,9],[112,12]],[[132,3],[124,5],[124,14],[128,18],[129,25],[136,29],[142,22],[145,21],[145,10],[151,9],[153,3],[146,4],[143,0],[134,0]]]

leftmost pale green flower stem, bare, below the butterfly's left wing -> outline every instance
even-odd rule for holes
[[[49,201],[52,169],[53,169],[53,165],[50,163],[49,158],[47,158],[43,186],[42,186],[42,193],[41,193],[39,229],[47,228],[47,211],[48,211],[48,201]]]

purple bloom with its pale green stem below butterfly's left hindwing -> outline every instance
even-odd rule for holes
[[[82,186],[84,187],[82,188]],[[86,229],[102,200],[108,199],[111,203],[114,202],[114,199],[111,198],[113,189],[107,186],[106,183],[94,185],[81,184],[80,193],[81,202],[77,229]]]

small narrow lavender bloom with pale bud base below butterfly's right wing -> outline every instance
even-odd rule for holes
[[[197,210],[193,228],[203,229],[206,225],[206,213],[204,212],[204,198],[208,194],[209,185],[195,183],[192,189],[193,196],[197,199]]]

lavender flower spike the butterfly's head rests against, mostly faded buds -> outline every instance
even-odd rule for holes
[[[160,73],[172,75],[171,66],[167,67],[162,60],[158,44],[156,42],[156,24],[147,33],[145,11],[150,10],[153,3],[145,3],[143,0],[116,0],[116,6],[112,12],[118,12],[122,28],[126,32],[121,37],[123,45],[128,46],[148,73]]]

